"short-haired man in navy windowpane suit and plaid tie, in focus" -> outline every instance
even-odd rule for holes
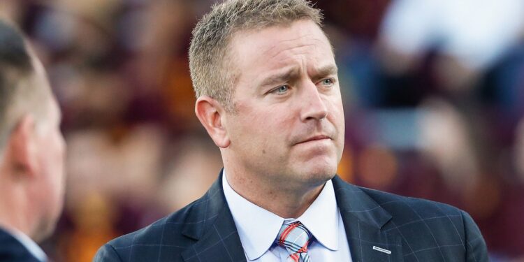
[[[347,184],[337,66],[304,0],[231,0],[193,31],[196,115],[224,170],[94,261],[487,261],[465,212]]]

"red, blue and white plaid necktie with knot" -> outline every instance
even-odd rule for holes
[[[286,248],[289,253],[289,262],[310,262],[310,254],[307,254],[310,239],[310,231],[307,231],[302,223],[295,221],[282,225],[275,243]]]

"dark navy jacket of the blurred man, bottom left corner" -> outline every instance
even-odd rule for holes
[[[13,235],[0,228],[0,262],[40,262]]]

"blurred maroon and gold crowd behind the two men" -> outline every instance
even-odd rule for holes
[[[187,50],[211,0],[0,0],[63,110],[66,206],[44,244],[91,261],[194,201],[218,148],[194,116]],[[524,261],[524,1],[320,0],[346,114],[339,174],[456,205],[493,261]]]

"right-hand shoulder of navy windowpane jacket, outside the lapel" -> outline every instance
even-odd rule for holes
[[[398,234],[405,259],[428,261],[435,253],[444,261],[488,261],[488,251],[470,214],[445,203],[360,188],[391,214],[384,230]]]

